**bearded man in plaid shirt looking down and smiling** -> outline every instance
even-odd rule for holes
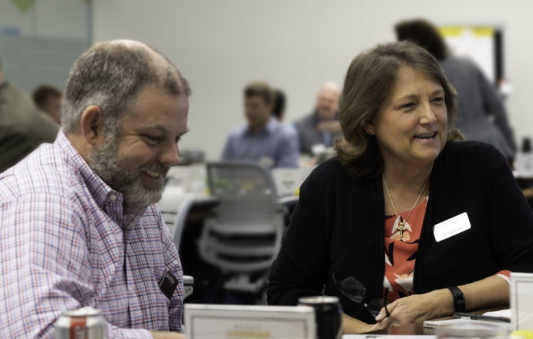
[[[3,335],[54,338],[62,312],[92,306],[108,338],[183,338],[169,332],[181,331],[182,267],[156,202],[189,95],[140,42],[78,58],[57,140],[0,174]]]

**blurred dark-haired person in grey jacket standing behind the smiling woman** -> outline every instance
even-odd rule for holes
[[[449,55],[438,29],[423,19],[402,21],[395,26],[397,39],[418,43],[441,64],[457,90],[460,119],[457,124],[467,140],[493,145],[510,160],[517,151],[504,103],[481,69],[467,58]],[[491,122],[493,120],[493,122]]]

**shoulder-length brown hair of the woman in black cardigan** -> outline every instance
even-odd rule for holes
[[[407,41],[377,45],[351,61],[338,106],[344,137],[335,141],[335,149],[340,163],[356,177],[373,177],[382,171],[383,160],[375,136],[367,134],[363,127],[365,122],[372,121],[390,95],[395,75],[403,66],[432,75],[443,86],[448,114],[447,141],[463,138],[455,128],[456,90],[433,55]]]

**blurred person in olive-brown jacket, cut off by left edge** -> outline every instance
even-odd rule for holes
[[[59,129],[24,90],[13,81],[3,81],[0,63],[0,173],[43,142],[53,142]]]

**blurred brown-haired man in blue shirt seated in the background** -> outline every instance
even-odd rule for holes
[[[248,124],[227,137],[223,161],[255,161],[269,168],[297,168],[299,145],[296,132],[273,116],[274,91],[264,81],[244,90]]]

